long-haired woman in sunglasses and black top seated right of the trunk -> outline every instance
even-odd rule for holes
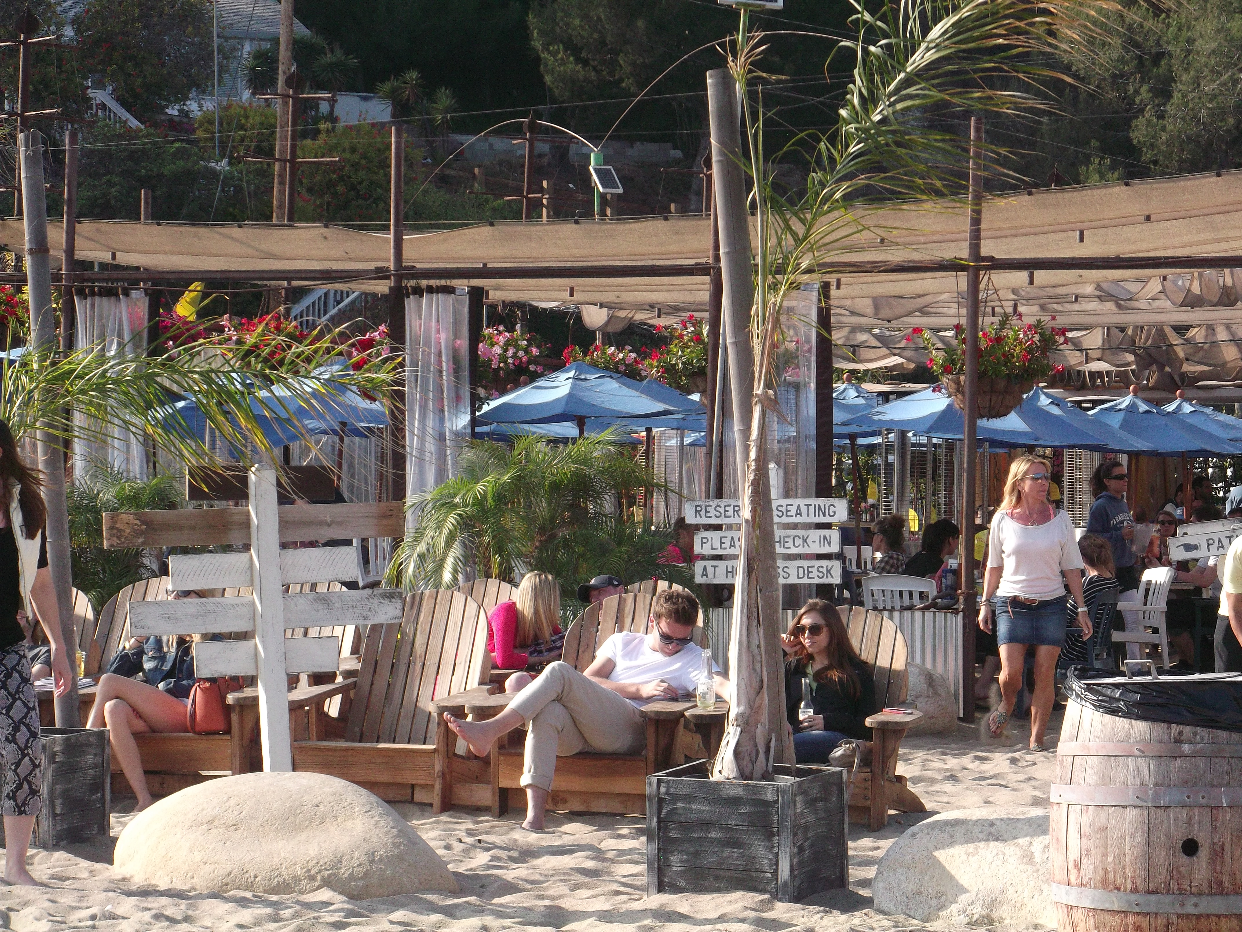
[[[826,764],[846,738],[871,741],[867,716],[879,711],[876,677],[850,644],[850,635],[830,601],[811,599],[797,613],[785,649],[785,713],[794,727],[794,758],[800,764]],[[802,681],[811,682],[815,717],[799,720]]]

